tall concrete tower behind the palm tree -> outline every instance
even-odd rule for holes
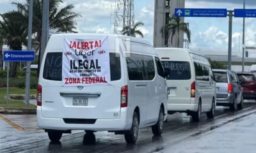
[[[185,8],[185,0],[155,0],[154,14],[154,47],[177,47],[177,34],[173,36],[171,43],[170,38],[163,38],[163,29],[166,19],[172,17],[175,8]],[[184,22],[184,17],[181,18]],[[183,48],[184,33],[180,31],[179,47]],[[173,45],[172,45],[173,44]]]

